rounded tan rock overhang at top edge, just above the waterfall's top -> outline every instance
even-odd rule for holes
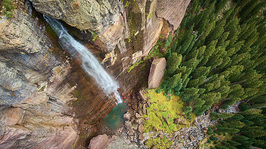
[[[103,32],[121,11],[120,0],[30,0],[37,11],[82,30]]]

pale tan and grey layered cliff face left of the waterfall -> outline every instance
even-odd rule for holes
[[[13,17],[0,21],[0,148],[73,147],[78,129],[67,102],[74,88],[52,87],[70,65],[51,52],[58,48],[24,1],[14,6]]]

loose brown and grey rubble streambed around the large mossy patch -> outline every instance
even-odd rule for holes
[[[144,126],[148,119],[147,117],[144,118],[143,106],[138,106],[143,105],[143,103],[147,107],[150,105],[149,100],[144,100],[139,92],[135,92],[130,96],[130,99],[127,100],[128,112],[123,115],[127,121],[122,127],[111,133],[113,135],[113,137],[110,137],[112,142],[106,141],[107,149],[158,149],[156,144],[151,145],[149,143],[151,139],[160,140],[161,142],[158,143],[161,145],[165,140],[169,142],[168,147],[164,146],[161,149],[196,149],[199,142],[204,139],[208,127],[216,124],[215,121],[210,119],[209,114],[204,113],[202,116],[195,118],[190,126],[178,131],[166,133],[165,131],[158,131],[154,127],[152,131],[147,132]],[[144,110],[146,115],[148,110]]]

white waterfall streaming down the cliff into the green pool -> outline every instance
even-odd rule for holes
[[[93,54],[85,46],[69,35],[61,22],[46,15],[44,15],[44,18],[59,36],[61,45],[68,49],[71,55],[75,55],[76,53],[81,55],[82,68],[84,71],[97,81],[107,95],[114,93],[117,102],[121,103],[122,99],[117,91],[119,88],[117,82],[104,70]]]

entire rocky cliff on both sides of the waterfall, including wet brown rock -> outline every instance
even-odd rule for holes
[[[190,0],[12,0],[0,20],[0,148],[84,148],[115,102],[69,57],[42,14],[61,19],[120,83],[147,82],[147,56],[178,27]],[[175,3],[175,5],[172,5]],[[158,11],[159,10],[159,11]],[[175,17],[173,17],[175,16]],[[79,30],[79,29],[82,29]]]

